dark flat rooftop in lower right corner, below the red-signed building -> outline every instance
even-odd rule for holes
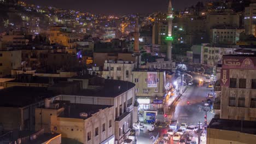
[[[240,133],[256,135],[256,121],[240,121],[234,119],[213,118],[208,128],[238,131]]]

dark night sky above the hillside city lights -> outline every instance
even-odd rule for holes
[[[200,0],[173,0],[174,9],[195,5]],[[206,2],[209,0],[201,0]],[[25,0],[30,4],[53,5],[63,9],[89,11],[96,14],[153,13],[167,11],[168,0]]]

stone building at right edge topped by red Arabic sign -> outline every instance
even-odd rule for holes
[[[220,118],[256,121],[256,57],[223,56]]]

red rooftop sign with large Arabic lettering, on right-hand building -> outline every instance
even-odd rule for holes
[[[256,57],[223,56],[224,69],[255,69]]]

